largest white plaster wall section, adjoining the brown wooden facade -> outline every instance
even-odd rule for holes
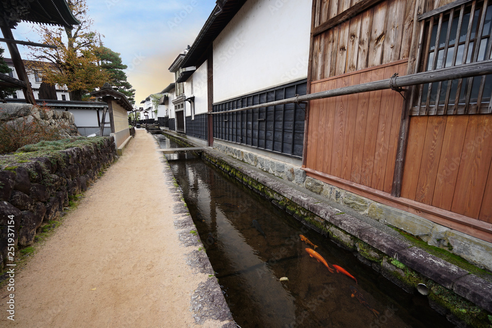
[[[214,103],[307,77],[311,0],[249,0],[214,41]]]

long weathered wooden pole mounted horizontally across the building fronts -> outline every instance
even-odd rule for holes
[[[343,87],[333,90],[320,91],[316,93],[297,95],[292,98],[271,101],[263,104],[252,105],[244,108],[231,109],[223,112],[207,112],[207,114],[217,115],[224,113],[242,112],[248,109],[264,108],[269,106],[301,103],[309,100],[317,100],[343,96],[347,94],[369,92],[384,89],[398,89],[401,87],[414,86],[424,83],[448,81],[454,79],[463,79],[468,77],[492,74],[492,60],[483,60],[472,62],[460,66],[452,66],[441,69],[436,69],[430,72],[421,72],[416,74],[392,77],[390,79],[358,84],[355,86]]]

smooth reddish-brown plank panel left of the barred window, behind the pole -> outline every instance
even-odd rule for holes
[[[406,60],[316,81],[311,92],[405,75]],[[306,167],[391,192],[403,97],[373,91],[312,101]]]

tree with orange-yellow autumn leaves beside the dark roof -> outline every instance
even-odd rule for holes
[[[82,100],[86,93],[108,82],[110,74],[97,65],[96,34],[91,30],[86,0],[67,2],[81,24],[71,28],[39,26],[41,42],[58,49],[32,47],[31,55],[36,61],[28,66],[40,73],[43,82],[66,86],[71,100]]]

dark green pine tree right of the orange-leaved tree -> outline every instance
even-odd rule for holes
[[[128,66],[123,64],[121,54],[103,45],[97,47],[95,54],[100,62],[100,67],[109,72],[111,76],[109,83],[113,89],[123,93],[132,105],[135,104],[135,89],[126,80],[127,77],[123,69],[128,68]]]

